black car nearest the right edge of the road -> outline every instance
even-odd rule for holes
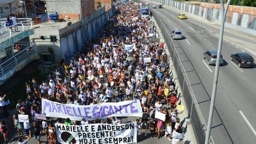
[[[231,61],[237,63],[239,67],[253,67],[254,65],[253,57],[246,52],[241,52],[234,55],[231,54],[230,58]]]

